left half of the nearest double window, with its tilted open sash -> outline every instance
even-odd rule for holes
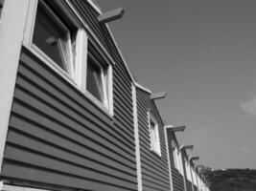
[[[70,75],[74,71],[71,31],[46,3],[39,1],[35,17],[33,44]]]

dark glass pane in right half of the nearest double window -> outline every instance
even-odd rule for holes
[[[88,57],[86,89],[101,102],[104,102],[102,70]]]

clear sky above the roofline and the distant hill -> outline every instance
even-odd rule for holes
[[[198,164],[256,169],[256,1],[98,0],[125,8],[109,24],[130,71],[158,109],[186,125]]]

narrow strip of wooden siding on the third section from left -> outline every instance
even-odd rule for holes
[[[183,176],[175,168],[175,159],[173,155],[174,147],[172,145],[172,140],[175,140],[175,135],[168,129],[167,129],[167,139],[168,139],[168,146],[169,146],[169,155],[170,155],[170,162],[171,162],[174,191],[184,191],[185,186],[184,186]]]

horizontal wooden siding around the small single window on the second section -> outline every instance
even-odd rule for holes
[[[137,88],[138,128],[141,154],[142,186],[145,191],[170,191],[170,179],[165,145],[164,124],[158,115],[150,94]],[[158,121],[161,157],[151,152],[151,138],[148,111],[151,110]]]

